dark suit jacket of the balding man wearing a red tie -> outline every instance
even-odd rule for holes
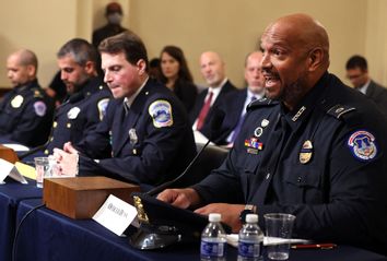
[[[208,115],[206,117],[204,124],[203,124],[202,129],[200,130],[200,132],[203,135],[206,135],[207,138],[210,138],[210,134],[211,134],[211,118],[213,116],[214,108],[218,108],[221,105],[222,100],[224,99],[224,97],[227,93],[235,92],[235,91],[236,91],[235,86],[230,81],[227,81],[223,85],[222,91],[218,95],[215,102],[212,104],[210,111],[208,112]],[[191,126],[195,123],[196,119],[198,118],[201,107],[203,107],[204,99],[206,99],[208,92],[209,92],[208,88],[202,91],[196,99],[195,106],[194,106],[194,108],[190,112],[190,117],[189,117],[190,121],[191,121]]]

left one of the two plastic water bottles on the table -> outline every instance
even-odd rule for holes
[[[221,214],[211,213],[209,224],[201,233],[200,260],[225,260],[226,234],[221,224]]]

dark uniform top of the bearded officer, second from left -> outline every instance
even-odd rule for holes
[[[81,91],[70,96],[57,109],[50,143],[45,154],[52,154],[54,147],[62,149],[69,141],[72,144],[79,143],[102,121],[110,98],[110,91],[99,78],[85,83]]]

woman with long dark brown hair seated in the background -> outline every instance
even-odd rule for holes
[[[161,82],[172,90],[189,112],[198,95],[183,50],[176,46],[165,46],[160,56]]]

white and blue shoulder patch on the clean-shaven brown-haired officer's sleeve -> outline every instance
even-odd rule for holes
[[[174,123],[172,106],[167,100],[157,99],[149,106],[149,114],[155,128],[168,127]]]

